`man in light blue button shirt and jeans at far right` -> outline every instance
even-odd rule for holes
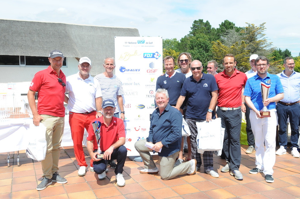
[[[295,62],[293,58],[286,57],[283,60],[283,66],[285,70],[282,73],[277,74],[280,78],[281,84],[284,90],[284,98],[277,102],[277,115],[278,115],[278,138],[280,148],[276,151],[276,155],[286,154],[286,123],[287,118],[289,118],[289,123],[291,125],[291,154],[295,158],[299,158],[300,154],[298,152],[298,139],[299,139],[299,91],[300,91],[300,73],[294,71]]]

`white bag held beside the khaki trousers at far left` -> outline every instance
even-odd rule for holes
[[[37,161],[44,160],[47,150],[46,126],[43,123],[40,126],[30,124],[28,132],[27,157]]]

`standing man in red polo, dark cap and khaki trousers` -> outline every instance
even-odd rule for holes
[[[39,126],[41,122],[46,126],[47,151],[45,159],[41,161],[43,179],[37,190],[46,189],[52,182],[67,183],[67,180],[57,172],[64,132],[66,76],[60,70],[64,55],[59,50],[53,50],[48,59],[50,66],[35,74],[27,94],[34,125]],[[35,105],[35,92],[38,92],[38,108]]]

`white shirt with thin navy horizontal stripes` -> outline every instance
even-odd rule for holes
[[[115,113],[119,112],[119,107],[117,103],[117,95],[123,95],[123,85],[121,80],[113,75],[112,78],[104,76],[102,73],[96,75],[94,77],[96,81],[99,82],[102,92],[102,99],[112,99],[115,102],[116,111]],[[123,104],[120,104],[122,106]]]

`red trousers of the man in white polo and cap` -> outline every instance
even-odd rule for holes
[[[74,113],[70,112],[69,124],[71,128],[71,135],[74,145],[74,153],[79,166],[88,166],[85,162],[85,155],[82,148],[82,140],[84,129],[88,130],[89,124],[96,119],[97,111],[93,111],[90,114]],[[90,162],[91,167],[93,161]]]

